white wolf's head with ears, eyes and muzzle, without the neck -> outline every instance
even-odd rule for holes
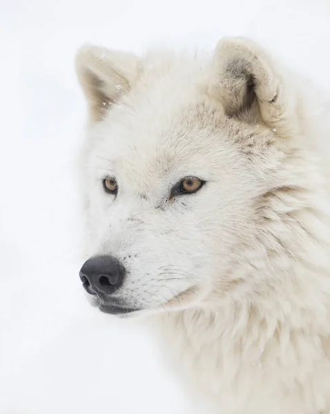
[[[249,297],[285,250],[274,206],[299,191],[295,101],[271,59],[223,39],[211,59],[84,47],[76,63],[90,114],[80,275],[95,304],[155,312]]]

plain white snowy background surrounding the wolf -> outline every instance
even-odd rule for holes
[[[327,0],[1,1],[1,414],[191,412],[144,328],[84,300],[75,50],[249,35],[330,89],[329,21]]]

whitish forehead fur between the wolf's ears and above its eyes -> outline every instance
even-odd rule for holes
[[[211,62],[197,55],[150,53],[130,93],[90,128],[95,155],[118,164],[124,154],[125,169],[137,173],[196,163],[202,152],[212,163],[214,152],[217,161],[222,150],[251,147],[257,135],[271,139],[262,124],[242,126],[225,114],[208,92],[212,76]]]

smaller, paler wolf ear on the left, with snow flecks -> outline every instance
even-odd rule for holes
[[[135,55],[97,46],[80,48],[75,63],[94,121],[102,119],[106,110],[130,90],[139,71]]]

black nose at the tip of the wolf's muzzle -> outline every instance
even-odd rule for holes
[[[111,256],[95,256],[80,269],[79,276],[90,295],[110,295],[122,286],[125,268]]]

